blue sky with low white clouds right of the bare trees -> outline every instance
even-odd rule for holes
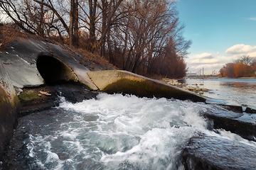
[[[178,0],[177,10],[192,41],[188,73],[218,73],[243,55],[256,57],[256,0]]]

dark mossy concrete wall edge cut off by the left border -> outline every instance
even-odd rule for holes
[[[0,60],[0,161],[17,125],[18,112],[18,97]]]

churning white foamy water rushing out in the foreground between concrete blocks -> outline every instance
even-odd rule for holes
[[[75,104],[63,100],[50,111],[51,123],[39,125],[45,133],[30,134],[31,167],[184,169],[183,147],[200,132],[256,147],[230,132],[207,130],[199,113],[214,109],[204,103],[119,94],[100,94]]]

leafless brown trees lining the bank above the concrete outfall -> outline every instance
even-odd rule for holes
[[[186,75],[191,40],[183,38],[175,1],[1,0],[0,13],[5,25],[101,55],[119,69]]]

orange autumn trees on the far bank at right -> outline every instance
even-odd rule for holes
[[[241,59],[225,64],[220,69],[220,77],[256,77],[256,60],[250,56],[242,56]]]

